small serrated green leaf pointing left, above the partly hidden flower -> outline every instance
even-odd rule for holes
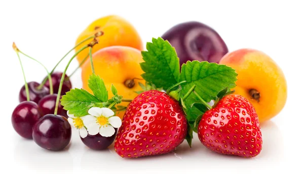
[[[91,95],[85,89],[74,88],[62,96],[61,105],[69,114],[81,117],[88,114],[88,110],[100,100]]]

